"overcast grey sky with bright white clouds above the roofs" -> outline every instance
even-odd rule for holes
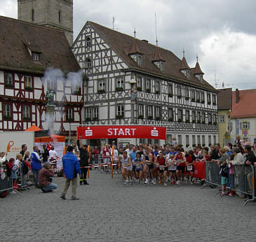
[[[39,0],[37,0],[39,1]],[[256,88],[256,1],[74,0],[74,39],[87,20],[156,43],[196,64],[206,80],[239,89]],[[17,0],[0,0],[0,15],[17,17]],[[215,70],[215,71],[214,71]],[[240,84],[240,83],[243,83]],[[232,85],[238,84],[238,85]],[[220,87],[220,86],[218,86]]]

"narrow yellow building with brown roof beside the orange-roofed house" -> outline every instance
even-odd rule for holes
[[[219,89],[217,94],[219,143],[223,147],[231,142],[230,114],[232,108],[232,88]]]

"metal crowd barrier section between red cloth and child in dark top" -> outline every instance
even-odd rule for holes
[[[211,187],[217,187],[221,185],[220,166],[217,162],[206,162],[206,183],[203,187],[210,185]]]

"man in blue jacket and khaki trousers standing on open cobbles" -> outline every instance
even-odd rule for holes
[[[65,187],[61,194],[61,199],[66,199],[67,190],[69,189],[70,182],[72,183],[72,200],[78,200],[76,197],[76,185],[77,185],[77,173],[81,178],[81,170],[79,166],[79,161],[73,154],[73,146],[69,145],[67,147],[67,155],[62,157],[63,171],[65,174]]]

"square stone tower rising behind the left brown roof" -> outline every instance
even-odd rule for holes
[[[18,20],[61,29],[73,43],[73,0],[18,0]]]

